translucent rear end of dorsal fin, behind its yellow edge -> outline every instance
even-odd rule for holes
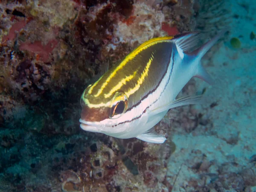
[[[183,52],[191,52],[200,41],[199,32],[189,32],[182,35],[176,35],[173,39],[177,48],[180,48]]]

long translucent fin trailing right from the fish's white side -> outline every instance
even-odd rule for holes
[[[150,115],[155,115],[161,113],[163,111],[167,111],[172,108],[177,108],[183,105],[192,105],[192,104],[204,104],[206,102],[206,97],[202,95],[196,96],[184,96],[179,99],[175,99],[173,102],[168,103],[166,105],[160,106],[152,111],[150,111]]]

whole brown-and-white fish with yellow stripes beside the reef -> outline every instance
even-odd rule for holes
[[[202,95],[176,97],[192,77],[214,83],[201,58],[225,32],[197,49],[199,32],[153,38],[141,44],[84,90],[80,127],[120,139],[136,137],[164,143],[166,137],[158,134],[154,125],[170,109],[204,100]]]

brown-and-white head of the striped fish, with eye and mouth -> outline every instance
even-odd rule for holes
[[[117,91],[105,97],[104,94],[92,94],[91,87],[87,87],[81,96],[80,127],[85,131],[108,135],[125,131],[128,127],[121,123],[128,109],[125,92]]]

